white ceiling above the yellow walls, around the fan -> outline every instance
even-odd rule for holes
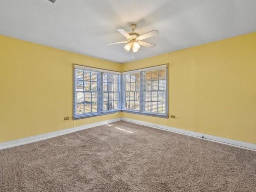
[[[134,53],[116,28],[159,34]],[[256,31],[256,1],[0,0],[0,34],[114,62],[130,62]]]

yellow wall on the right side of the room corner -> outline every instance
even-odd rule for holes
[[[169,63],[169,115],[122,116],[256,143],[256,32],[122,64]]]

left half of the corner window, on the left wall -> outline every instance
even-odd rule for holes
[[[73,118],[121,110],[120,73],[74,65]]]

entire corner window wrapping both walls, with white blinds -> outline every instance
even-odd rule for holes
[[[73,118],[117,111],[168,118],[167,65],[113,72],[74,65]]]

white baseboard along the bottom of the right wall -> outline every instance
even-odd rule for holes
[[[158,129],[162,129],[162,130],[168,130],[170,132],[175,132],[178,134],[184,134],[184,135],[188,135],[188,136],[192,136],[192,137],[196,137],[196,138],[200,138],[200,139],[210,140],[213,142],[218,142],[218,143],[222,143],[222,144],[227,144],[227,145],[231,145],[231,146],[235,146],[235,147],[240,147],[240,148],[245,148],[245,149],[256,151],[256,144],[253,144],[253,143],[247,143],[247,142],[242,142],[242,141],[238,141],[238,140],[227,139],[227,138],[223,138],[223,137],[218,137],[218,136],[203,134],[203,133],[199,133],[199,132],[178,129],[178,128],[169,127],[169,126],[152,124],[149,122],[138,121],[138,120],[129,119],[129,118],[122,118],[122,121],[132,122],[132,123],[136,123],[136,124],[140,124],[140,125],[144,125],[144,126],[148,126],[148,127],[152,127],[152,128],[158,128]],[[201,138],[201,136],[204,136],[204,138]]]

